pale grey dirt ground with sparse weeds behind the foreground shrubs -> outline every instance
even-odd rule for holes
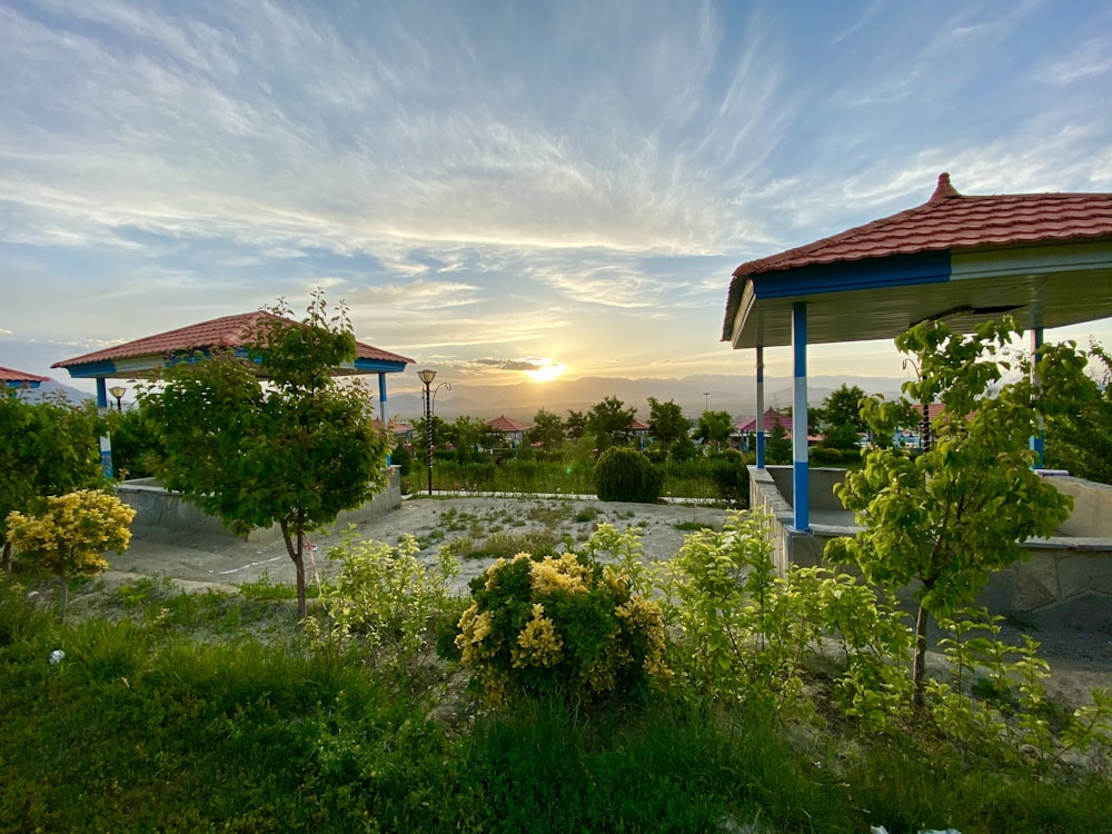
[[[588,520],[576,516],[597,514]],[[411,534],[421,544],[421,558],[431,560],[438,547],[456,536],[487,535],[493,532],[524,533],[548,528],[557,538],[570,536],[586,539],[598,523],[609,523],[619,530],[638,527],[642,530],[646,559],[671,558],[679,549],[693,525],[721,527],[727,516],[724,509],[681,505],[646,505],[604,503],[569,498],[413,498],[390,510],[358,525],[355,535],[363,540],[397,544],[403,534]],[[677,528],[681,525],[683,528]],[[312,537],[316,549],[307,564],[309,582],[314,575],[329,576],[335,564],[328,559],[329,548],[338,544],[338,532]],[[236,586],[268,576],[274,582],[294,582],[294,565],[286,555],[281,538],[267,542],[242,542],[227,536],[183,534],[172,542],[132,539],[122,554],[109,554],[111,569],[103,576],[103,587],[112,587],[136,576],[165,576],[186,588]],[[489,559],[466,559],[456,590],[466,593],[467,582],[481,574]],[[1106,622],[1106,620],[1105,620]],[[1088,702],[1089,693],[1098,687],[1112,687],[1112,634],[1103,628],[1046,628],[1037,620],[1005,627],[1004,637],[1019,642],[1025,631],[1042,646],[1041,656],[1051,665],[1052,679],[1048,691],[1070,703]]]

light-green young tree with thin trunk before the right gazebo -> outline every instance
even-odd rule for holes
[[[913,677],[920,706],[929,617],[972,599],[993,570],[1021,556],[1024,539],[1053,534],[1070,514],[1070,498],[1032,469],[1029,438],[1040,414],[1060,414],[1086,396],[1084,355],[1072,345],[1044,345],[1037,389],[1022,359],[1016,369],[1024,376],[1002,383],[1012,363],[1001,351],[1017,334],[1005,319],[970,336],[939,321],[900,336],[896,347],[915,357],[920,377],[904,384],[906,398],[866,399],[865,421],[891,436],[915,419],[916,404],[941,400],[936,440],[917,457],[872,448],[864,468],[835,487],[864,529],[831,542],[827,557],[858,565],[892,592],[919,582]]]

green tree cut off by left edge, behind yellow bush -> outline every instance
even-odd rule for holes
[[[98,438],[108,430],[91,400],[64,397],[26,403],[0,396],[0,540],[3,570],[11,573],[6,518],[27,510],[34,498],[96,488],[105,483]]]

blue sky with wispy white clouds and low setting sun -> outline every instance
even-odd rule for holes
[[[739,264],[1112,191],[1106,0],[0,0],[0,365],[63,380],[316,288],[440,379],[752,376]]]

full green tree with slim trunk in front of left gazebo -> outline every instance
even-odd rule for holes
[[[331,376],[356,355],[347,311],[329,318],[317,292],[302,322],[282,301],[262,312],[249,360],[225,353],[179,363],[161,393],[139,400],[163,448],[167,489],[237,533],[280,526],[305,617],[305,533],[381,487],[388,439],[373,425],[367,391]]]

